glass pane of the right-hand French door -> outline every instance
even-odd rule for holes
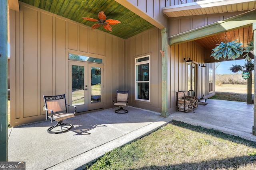
[[[101,68],[91,67],[91,103],[101,102]]]

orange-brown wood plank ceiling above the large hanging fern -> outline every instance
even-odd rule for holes
[[[242,47],[246,47],[247,44],[250,43],[250,41],[252,41],[252,38],[252,25],[250,25],[248,27],[227,31],[224,33],[212,35],[210,37],[205,37],[195,41],[196,43],[204,47],[204,49],[212,50],[216,47],[216,45],[220,44],[220,42],[231,42],[236,39],[238,40],[237,42],[243,43]]]

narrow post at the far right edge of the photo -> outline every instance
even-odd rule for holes
[[[254,70],[256,70],[256,64],[255,64],[255,61],[256,61],[256,22],[252,23],[252,30],[253,30],[253,43],[254,43],[254,46],[253,46],[253,49],[254,49],[254,52],[253,52],[253,55],[254,55]],[[254,97],[253,97],[253,104],[254,104],[254,121],[253,121],[253,127],[252,127],[252,135],[256,135],[256,90],[255,90],[255,87],[256,87],[256,74],[255,74],[255,71],[254,71]]]

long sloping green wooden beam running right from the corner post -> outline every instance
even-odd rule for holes
[[[185,43],[196,39],[201,39],[211,35],[216,35],[225,31],[247,27],[256,22],[256,10],[240,14],[225,20],[221,20],[203,27],[192,29],[184,33],[169,37],[169,45]]]

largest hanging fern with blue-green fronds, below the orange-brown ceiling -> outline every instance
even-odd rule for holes
[[[241,47],[242,43],[236,43],[237,39],[232,42],[223,43],[220,42],[217,47],[212,49],[212,55],[214,59],[219,60],[221,58],[226,59],[236,59],[243,54],[243,48]]]

